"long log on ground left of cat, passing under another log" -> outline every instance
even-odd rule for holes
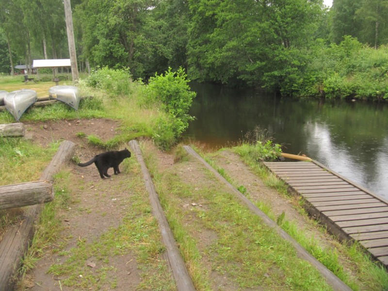
[[[51,181],[65,162],[74,155],[75,144],[64,141],[59,146],[57,153],[52,158],[49,166],[40,177],[41,181]],[[21,223],[11,226],[0,242],[0,291],[13,290],[16,271],[19,269],[21,259],[28,250],[33,235],[35,219],[41,212],[41,205],[29,206],[21,217]]]

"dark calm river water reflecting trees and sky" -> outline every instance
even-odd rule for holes
[[[185,137],[210,147],[256,126],[283,152],[306,154],[388,199],[388,106],[362,101],[276,98],[255,90],[191,84],[197,92]]]

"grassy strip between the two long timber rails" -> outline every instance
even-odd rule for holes
[[[215,275],[210,273],[227,278],[235,290],[331,290],[315,268],[297,258],[291,244],[246,209],[212,174],[205,171],[206,178],[193,181],[185,170],[196,168],[195,163],[182,157],[172,170],[161,174],[153,150],[143,146],[143,152],[197,290],[214,289]],[[193,172],[198,170],[202,171],[199,167]],[[207,207],[182,208],[190,201]],[[198,238],[201,232],[211,234],[208,245]]]

